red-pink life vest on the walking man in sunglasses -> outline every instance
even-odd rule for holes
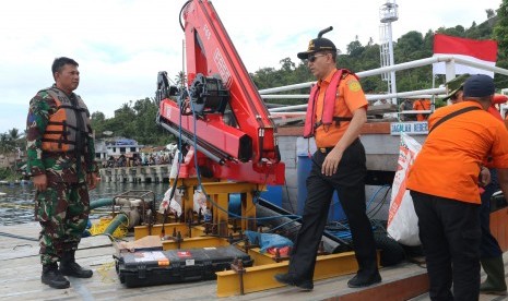
[[[328,85],[327,91],[324,92],[324,104],[323,104],[323,112],[322,119],[315,122],[316,119],[316,101],[319,95],[318,85],[314,85],[310,89],[310,97],[307,105],[307,113],[305,118],[305,125],[304,125],[304,137],[311,137],[314,136],[316,129],[320,125],[330,127],[333,121],[335,121],[335,125],[340,125],[341,121],[351,121],[351,117],[339,117],[333,116],[335,109],[335,99],[336,99],[336,89],[339,88],[339,84],[345,74],[352,74],[356,79],[358,79],[354,73],[348,71],[347,69],[339,69],[333,73],[333,76],[330,81],[330,85]]]

